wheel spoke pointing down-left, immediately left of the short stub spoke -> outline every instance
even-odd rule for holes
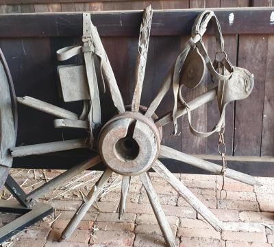
[[[62,232],[61,239],[68,239],[79,222],[83,219],[84,215],[90,209],[91,205],[93,202],[95,202],[96,198],[99,196],[103,189],[103,185],[108,181],[108,178],[110,178],[112,174],[112,170],[106,169],[105,172],[103,172],[101,178],[97,181],[97,183],[92,187],[90,192],[88,193],[88,196],[84,199],[84,202],[82,202],[81,206],[79,209],[75,212],[73,215],[71,221],[69,224],[66,226],[64,231]]]

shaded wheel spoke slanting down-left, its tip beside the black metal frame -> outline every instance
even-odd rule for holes
[[[90,167],[93,167],[100,162],[101,162],[101,158],[99,155],[97,155],[94,158],[90,158],[90,160],[88,161],[85,161],[79,165],[75,165],[74,167],[71,167],[71,169],[66,170],[66,172],[63,172],[59,176],[56,176],[55,178],[51,179],[48,183],[45,183],[45,185],[42,185],[41,187],[38,187],[37,189],[29,193],[26,196],[27,202],[33,202],[34,200],[40,198],[41,196],[44,196],[51,189],[54,189],[62,185],[64,182],[71,180],[77,174],[84,172],[84,170],[89,169]]]

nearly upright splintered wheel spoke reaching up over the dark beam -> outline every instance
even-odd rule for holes
[[[132,111],[139,111],[140,107],[140,98],[142,95],[142,83],[145,78],[145,69],[147,64],[147,51],[149,49],[149,35],[151,29],[151,20],[152,20],[152,9],[151,5],[145,8],[142,14],[142,23],[140,27],[140,35],[138,41],[138,56],[136,62],[136,71],[135,71],[135,90],[132,99]]]

